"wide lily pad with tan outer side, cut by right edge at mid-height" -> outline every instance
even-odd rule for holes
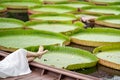
[[[120,30],[109,28],[80,29],[71,34],[72,42],[87,46],[120,43]]]

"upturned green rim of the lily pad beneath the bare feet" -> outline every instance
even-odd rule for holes
[[[47,48],[46,48],[47,47]],[[31,49],[33,49],[33,47],[28,47],[27,49],[28,50],[30,50],[30,48]],[[67,67],[66,67],[66,69],[69,69],[69,70],[74,70],[74,69],[80,69],[80,68],[85,68],[85,67],[91,67],[91,66],[95,66],[95,64],[97,63],[97,61],[98,61],[98,58],[95,56],[95,55],[93,55],[93,54],[91,54],[89,51],[86,51],[86,50],[82,50],[82,49],[77,49],[77,48],[72,48],[72,47],[65,47],[65,46],[62,46],[62,47],[60,47],[60,46],[45,46],[45,49],[47,49],[47,50],[49,50],[49,51],[54,51],[54,48],[55,49],[57,49],[56,51],[62,51],[62,52],[64,52],[64,51],[67,51],[67,53],[66,54],[68,54],[68,53],[70,53],[70,54],[74,54],[75,52],[76,52],[76,54],[74,54],[74,55],[82,55],[82,56],[84,56],[85,57],[85,55],[87,55],[87,57],[88,58],[90,58],[91,57],[91,60],[92,60],[92,62],[90,62],[90,63],[81,63],[81,64],[71,64],[71,65],[68,65]],[[64,49],[64,50],[63,50]],[[69,50],[65,50],[65,49],[69,49]],[[33,49],[34,50],[34,49]],[[31,50],[30,50],[31,51]],[[73,52],[73,53],[71,53],[71,52]],[[79,52],[79,54],[78,54],[78,52]],[[81,53],[82,52],[82,53]],[[81,54],[80,54],[81,53]],[[94,63],[94,64],[92,64],[92,63]],[[87,66],[82,66],[82,64],[84,64],[84,65],[87,65]],[[77,65],[77,66],[79,66],[79,67],[74,67],[74,69],[72,68],[74,65]]]

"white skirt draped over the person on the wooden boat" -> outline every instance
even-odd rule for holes
[[[26,54],[27,50],[18,49],[0,61],[0,78],[31,73]]]

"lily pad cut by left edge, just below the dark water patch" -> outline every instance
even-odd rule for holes
[[[24,22],[12,18],[0,18],[0,29],[22,28]]]

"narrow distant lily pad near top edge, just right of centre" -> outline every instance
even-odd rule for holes
[[[75,2],[62,2],[57,5],[68,6],[68,7],[73,7],[73,8],[82,8],[82,7],[90,6],[93,4],[88,3],[88,2],[75,1]]]

